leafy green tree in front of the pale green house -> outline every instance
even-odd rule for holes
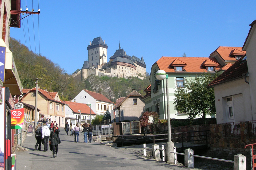
[[[206,115],[215,115],[214,89],[207,88],[207,85],[216,78],[216,74],[205,73],[197,75],[194,79],[190,77],[186,80],[184,88],[175,90],[174,99],[175,110],[189,114],[189,118],[194,119]]]

